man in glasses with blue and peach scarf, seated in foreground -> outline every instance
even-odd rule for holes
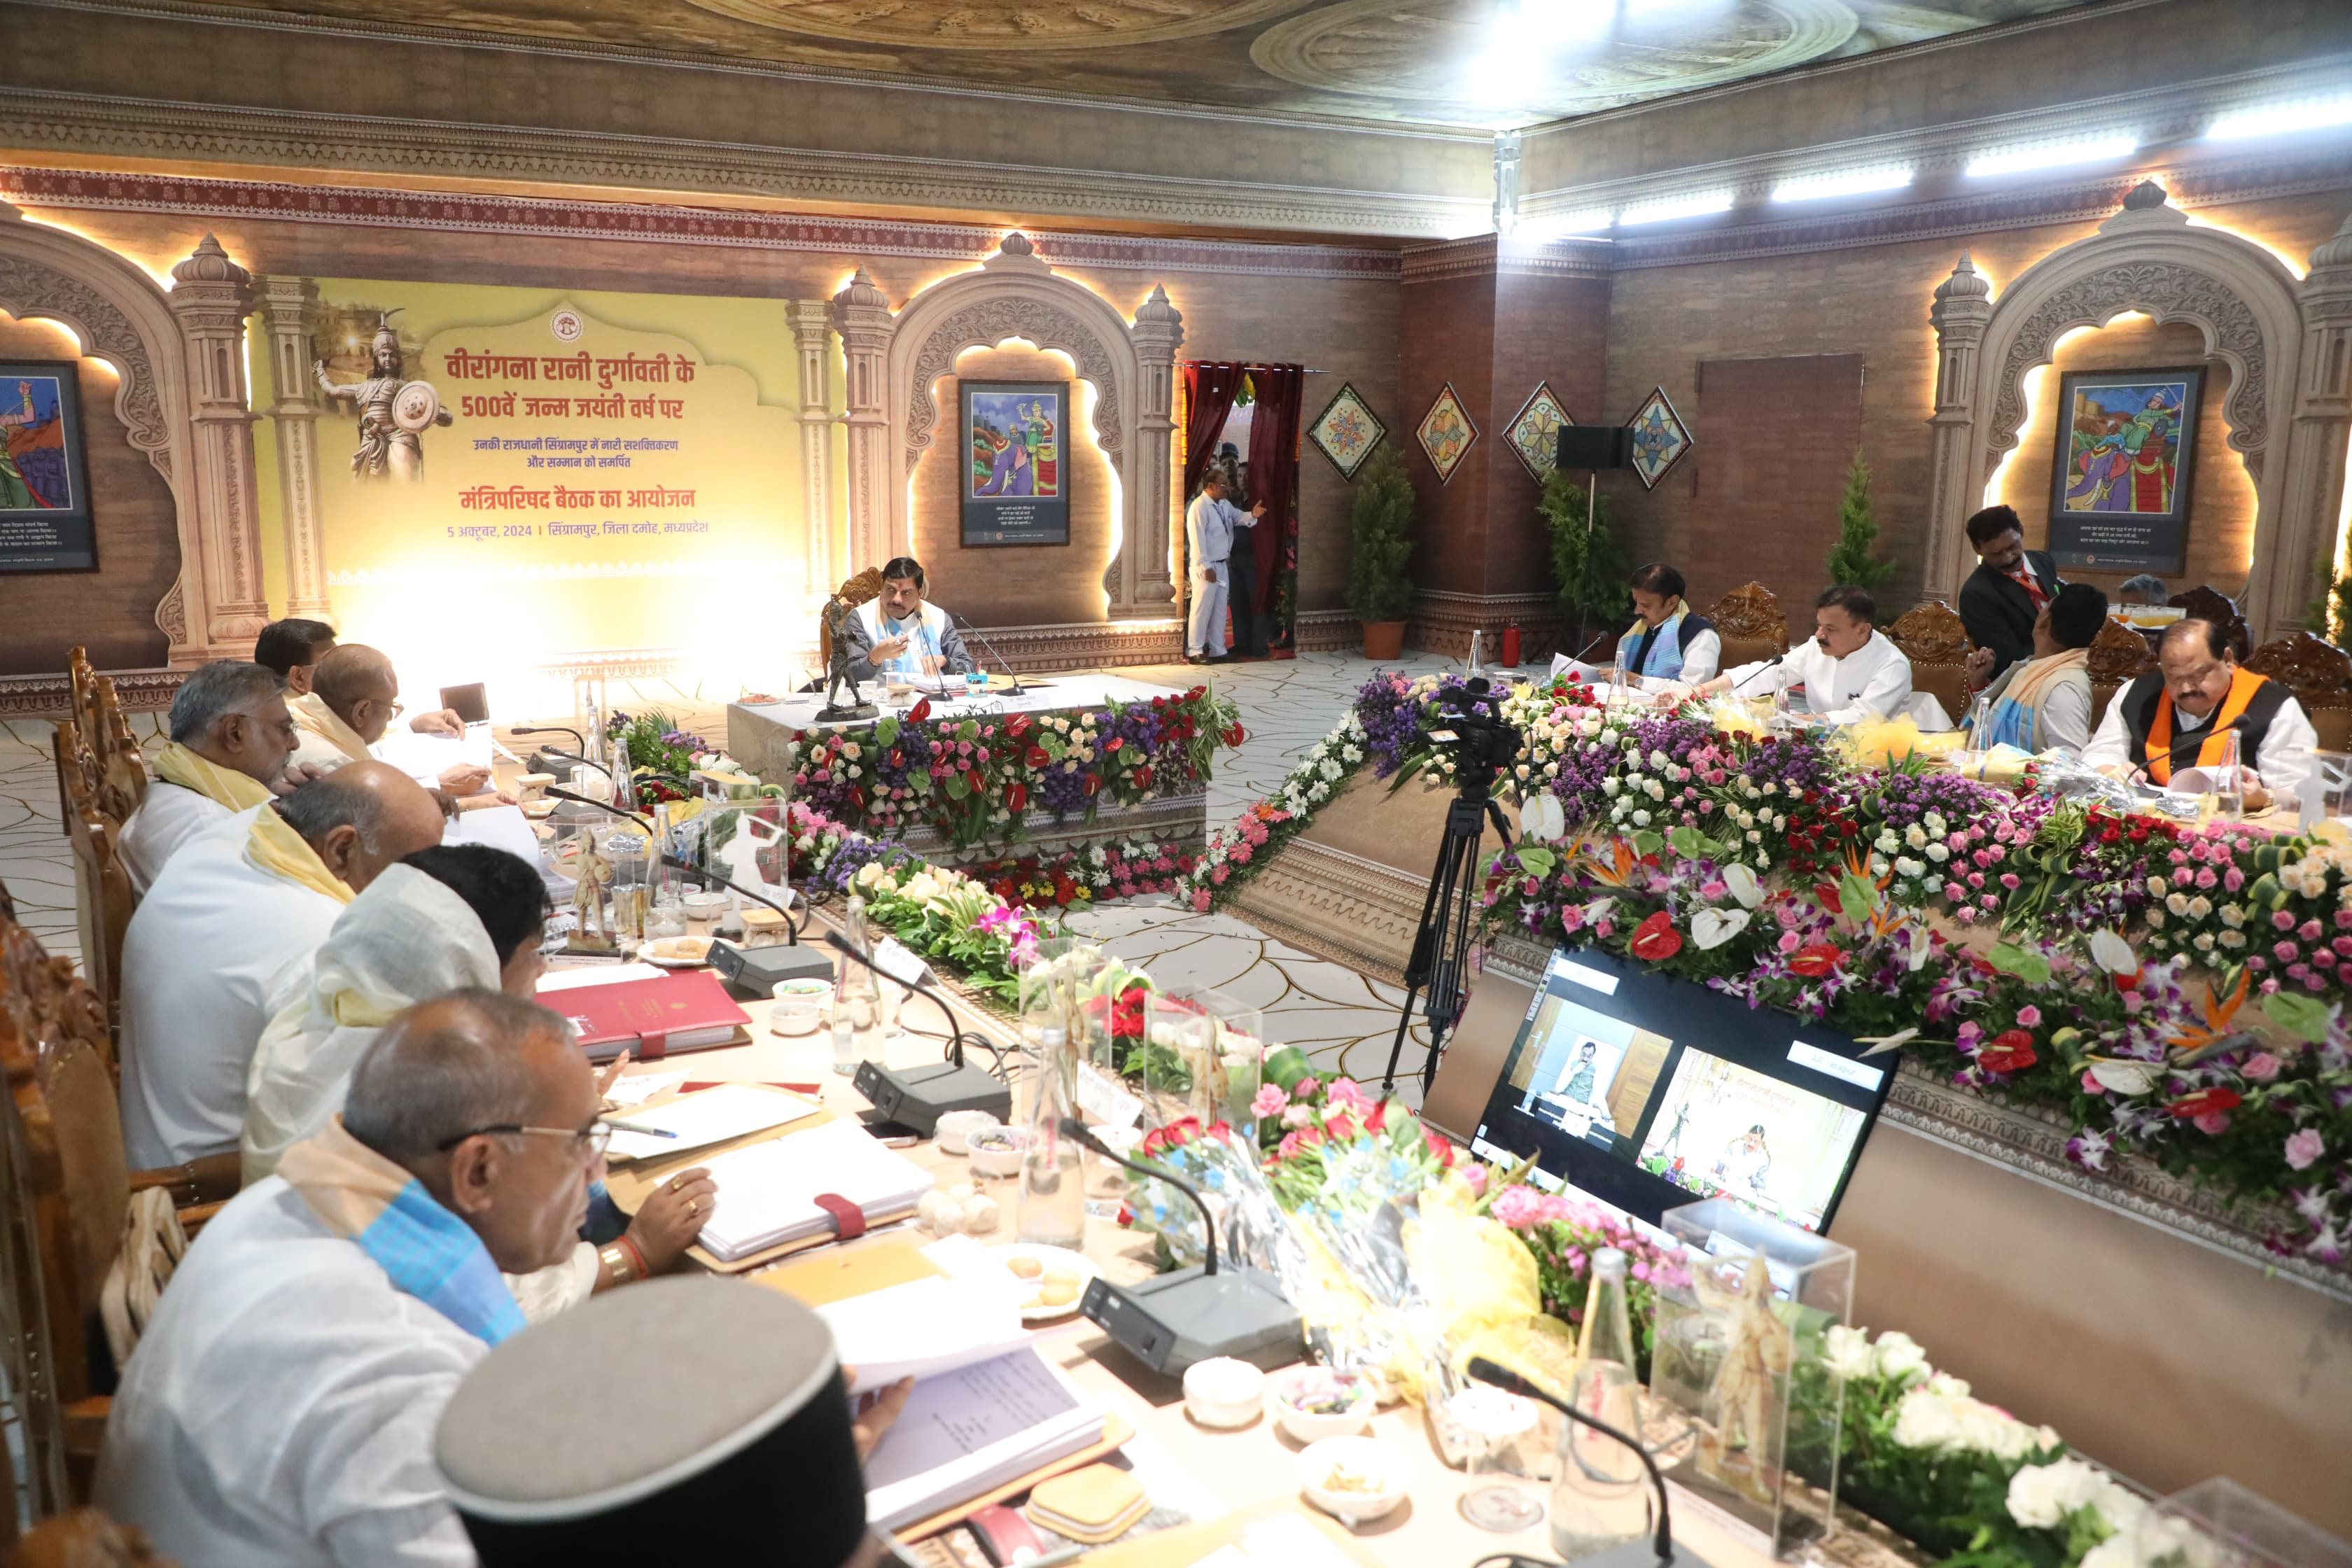
[[[468,990],[395,1018],[343,1114],[188,1248],[122,1373],[99,1507],[191,1566],[470,1568],[433,1427],[524,1326],[499,1272],[572,1255],[604,1138],[555,1013]]]

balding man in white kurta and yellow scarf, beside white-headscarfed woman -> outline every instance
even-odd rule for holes
[[[273,823],[261,823],[273,813]],[[440,806],[381,762],[240,811],[183,846],[122,938],[122,1145],[132,1168],[235,1154],[245,1070],[280,976]]]

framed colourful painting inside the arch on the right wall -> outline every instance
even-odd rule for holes
[[[2096,571],[2187,571],[2204,367],[2058,378],[2051,555]]]

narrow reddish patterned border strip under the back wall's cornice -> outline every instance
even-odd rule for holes
[[[19,207],[75,212],[169,212],[205,219],[268,219],[433,228],[452,233],[635,240],[823,256],[927,256],[983,261],[1002,228],[913,219],[840,219],[795,212],[736,212],[652,202],[503,197],[390,186],[294,186],[282,181],[186,179],[103,169],[0,167],[0,197]],[[1152,240],[1136,235],[1042,233],[1037,254],[1054,266],[1096,270],[1216,273],[1270,277],[1397,277],[1397,252],[1345,244],[1251,244],[1242,240]]]

